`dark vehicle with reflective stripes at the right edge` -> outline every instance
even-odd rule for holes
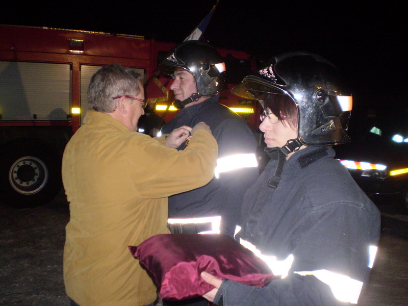
[[[408,213],[408,115],[351,117],[351,142],[334,146],[336,158],[376,203]]]

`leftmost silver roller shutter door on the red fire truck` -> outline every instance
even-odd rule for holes
[[[70,65],[0,62],[3,120],[67,120]]]

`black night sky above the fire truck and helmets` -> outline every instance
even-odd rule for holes
[[[142,35],[179,43],[215,3],[15,2],[2,10],[0,23]],[[393,2],[220,0],[205,37],[214,46],[245,50],[260,61],[297,50],[322,55],[343,73],[355,106],[405,108],[405,10]]]

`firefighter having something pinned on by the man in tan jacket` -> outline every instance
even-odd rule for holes
[[[218,93],[227,90],[224,61],[208,43],[186,41],[170,51],[159,69],[174,79],[170,86],[173,105],[180,109],[161,132],[204,121],[217,140],[219,152],[209,184],[169,197],[170,230],[233,236],[244,192],[257,180],[259,170],[253,132],[239,115],[218,103]]]

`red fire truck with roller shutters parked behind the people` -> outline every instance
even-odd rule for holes
[[[141,36],[0,25],[0,201],[23,208],[52,199],[61,189],[64,147],[87,110],[93,73],[120,63],[146,82],[174,45]],[[244,52],[219,52],[230,87],[254,68]],[[168,122],[175,111],[169,84],[159,81],[149,82],[146,95],[156,117],[166,115],[161,121]],[[149,91],[152,84],[156,93]],[[256,130],[259,110],[253,101],[230,92],[220,101]]]

